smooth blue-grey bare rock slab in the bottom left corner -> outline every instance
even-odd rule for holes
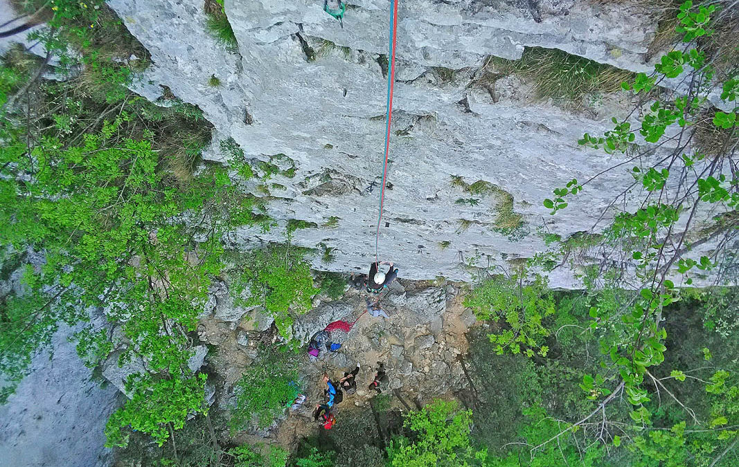
[[[0,466],[106,467],[112,451],[103,429],[118,407],[118,390],[92,381],[62,327],[52,346],[33,359],[7,404],[0,406]]]

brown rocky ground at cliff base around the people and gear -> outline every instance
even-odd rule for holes
[[[345,395],[344,401],[336,404],[337,426],[347,422],[357,426],[356,418],[368,414],[372,417],[370,402],[376,392],[369,390],[368,385],[375,376],[378,362],[385,364],[389,376],[389,388],[385,392],[396,395],[386,401],[392,408],[404,409],[404,405],[415,408],[467,387],[460,356],[467,350],[465,334],[476,320],[472,311],[463,306],[460,287],[463,284],[398,280],[382,294],[380,301],[389,319],[363,314],[365,297],[369,297],[365,291],[350,289],[338,300],[321,301],[308,314],[296,319],[293,329],[300,330],[307,344],[307,339],[328,322],[356,319],[351,331],[344,336],[341,348],[333,353],[321,353],[319,359],[311,359],[304,345],[299,353],[299,384],[307,400],[302,407],[286,411],[266,429],[236,434],[234,440],[238,443],[267,441],[287,447],[296,446],[304,437],[319,435],[321,428],[313,423],[311,413],[323,400],[323,373],[338,381],[344,372],[353,370],[355,364],[360,365],[356,378],[358,390],[353,395]],[[216,381],[217,409],[228,409],[233,404],[234,384],[257,358],[259,343],[276,339],[273,329],[255,331],[255,319],[251,316],[232,322],[207,316],[200,322],[200,339],[211,346],[207,363],[212,373],[211,381]],[[264,319],[256,322],[263,323]]]

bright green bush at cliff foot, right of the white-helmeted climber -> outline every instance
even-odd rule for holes
[[[478,319],[492,319],[503,329],[491,333],[497,353],[525,353],[546,356],[545,339],[551,331],[548,316],[554,314],[554,298],[547,290],[545,277],[524,284],[521,275],[510,279],[491,279],[465,297],[464,305],[472,308]]]

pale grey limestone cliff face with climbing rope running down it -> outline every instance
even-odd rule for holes
[[[289,219],[317,225],[293,240],[335,248],[336,259],[324,264],[319,255],[316,269],[367,269],[382,173],[389,2],[350,2],[341,29],[319,0],[225,0],[237,52],[208,33],[202,0],[109,4],[154,61],[137,91],[154,99],[166,85],[199,105],[217,132],[208,159],[225,160],[218,143],[233,138],[249,157],[295,167],[292,178],[270,180],[270,215],[282,226]],[[643,71],[654,27],[633,8],[584,0],[401,1],[381,259],[394,260],[409,279],[466,280],[470,265],[505,265],[545,249],[537,235],[545,223],[562,238],[589,229],[630,179],[625,171],[588,185],[556,216],[542,200],[619,162],[576,140],[604,130],[622,103],[606,96],[576,114],[537,102],[516,78],[498,80],[492,91],[476,86],[479,70],[488,55],[518,58],[524,46],[544,46]],[[212,75],[222,86],[208,86]],[[471,196],[453,176],[488,182],[486,193]],[[511,214],[510,196],[521,222],[501,218],[503,210]],[[460,205],[460,198],[479,201]],[[285,235],[235,238],[248,246]],[[557,274],[553,286],[574,285],[570,271]]]

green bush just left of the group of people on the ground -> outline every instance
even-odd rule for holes
[[[259,360],[245,369],[234,386],[231,429],[269,426],[295,400],[297,380],[298,363],[287,347],[262,349]]]

